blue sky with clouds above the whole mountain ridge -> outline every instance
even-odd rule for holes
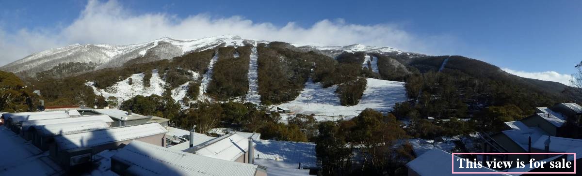
[[[0,0],[0,65],[71,44],[240,35],[462,55],[568,84],[582,58],[582,1]]]

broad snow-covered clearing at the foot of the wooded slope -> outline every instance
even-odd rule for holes
[[[388,112],[392,110],[395,103],[406,100],[404,82],[374,78],[368,78],[367,81],[364,96],[356,106],[342,106],[340,104],[340,100],[335,94],[336,85],[322,88],[321,84],[311,80],[306,82],[305,88],[296,99],[275,106],[286,107],[296,114],[315,114],[318,121],[335,121],[339,118],[348,119],[357,116],[366,108]]]

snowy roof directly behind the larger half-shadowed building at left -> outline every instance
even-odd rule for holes
[[[44,136],[55,136],[100,130],[107,127],[109,125],[102,120],[90,120],[43,125],[38,130]]]

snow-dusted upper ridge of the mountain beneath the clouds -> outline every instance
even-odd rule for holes
[[[93,70],[108,67],[123,66],[129,60],[140,58],[144,62],[151,62],[160,59],[172,59],[182,56],[185,53],[203,51],[217,46],[244,46],[268,41],[243,39],[236,35],[222,35],[219,37],[207,37],[191,40],[179,40],[172,38],[161,38],[153,41],[133,45],[111,45],[111,44],[74,44],[62,48],[53,48],[46,51],[33,53],[26,58],[0,67],[0,70],[20,73],[27,76],[34,76],[40,71],[52,69],[59,64],[65,63],[91,63]],[[382,54],[402,54],[403,52],[390,47],[365,46],[361,44],[347,46],[310,46],[292,44],[297,48],[320,51],[330,56],[339,55],[343,51],[356,52],[378,52]],[[92,71],[92,70],[86,70]]]

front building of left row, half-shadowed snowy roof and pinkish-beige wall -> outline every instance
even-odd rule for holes
[[[118,149],[120,145],[126,145],[133,140],[165,147],[165,134],[166,129],[158,123],[148,123],[58,135],[50,145],[49,156],[68,170],[70,167],[90,163],[95,153]]]

